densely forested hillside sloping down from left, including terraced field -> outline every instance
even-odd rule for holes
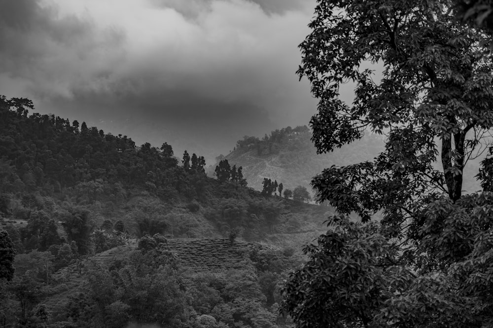
[[[290,327],[280,283],[330,208],[33,108],[0,98],[1,327]]]

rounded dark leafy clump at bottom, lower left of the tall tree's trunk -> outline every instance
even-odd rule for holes
[[[284,293],[301,292],[284,303],[291,309],[295,322],[302,323],[299,327],[370,327],[369,323],[389,298],[390,290],[402,289],[387,276],[392,268],[390,262],[382,259],[392,261],[395,250],[383,236],[376,234],[378,224],[358,229],[355,223],[344,219],[340,222],[334,230],[321,235],[317,245],[305,247],[304,253],[310,259],[284,286]],[[334,265],[320,264],[317,253],[323,254],[325,263]],[[319,274],[320,270],[323,275]],[[411,274],[407,270],[401,274],[403,285]],[[351,283],[348,276],[353,277]],[[303,302],[313,305],[298,306]],[[387,326],[385,322],[378,324],[372,327]]]

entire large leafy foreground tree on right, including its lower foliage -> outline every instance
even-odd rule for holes
[[[482,163],[482,194],[462,195],[462,172],[493,127],[491,36],[455,19],[454,1],[317,2],[298,70],[319,100],[317,152],[369,132],[386,146],[373,162],[312,180],[317,200],[340,216],[305,248],[283,308],[298,327],[490,325],[489,283],[476,277],[493,263],[483,239],[493,233],[493,163]],[[367,61],[383,64],[381,79],[360,69]],[[339,98],[347,81],[351,106]]]

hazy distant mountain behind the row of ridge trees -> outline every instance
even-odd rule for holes
[[[317,154],[311,137],[312,132],[307,126],[288,126],[272,131],[270,136],[266,134],[262,139],[245,136],[236,143],[235,150],[216,160],[227,159],[231,166],[242,166],[248,186],[257,190],[262,189],[264,178],[277,180],[284,190],[292,190],[298,185],[310,190],[310,181],[323,169],[371,160],[384,146],[381,136],[368,133],[357,143],[331,153]],[[217,164],[209,168],[210,176]]]

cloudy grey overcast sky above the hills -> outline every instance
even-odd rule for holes
[[[0,94],[208,164],[307,124],[315,0],[0,0]]]

